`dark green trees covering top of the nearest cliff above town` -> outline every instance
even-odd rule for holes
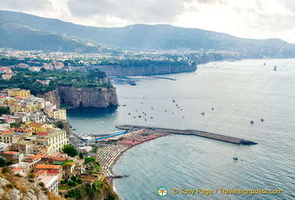
[[[29,89],[34,96],[54,90],[57,86],[68,86],[77,88],[89,87],[111,87],[108,82],[102,83],[102,78],[107,75],[100,70],[85,72],[64,72],[55,70],[42,70],[42,72],[31,72],[27,69],[14,68],[16,75],[10,80],[0,80],[1,88]],[[48,85],[40,81],[51,80]]]

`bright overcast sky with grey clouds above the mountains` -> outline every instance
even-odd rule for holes
[[[169,24],[295,44],[294,0],[0,0],[0,5],[95,27]]]

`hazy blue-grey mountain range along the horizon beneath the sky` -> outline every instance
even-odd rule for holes
[[[57,19],[41,18],[30,14],[10,11],[0,11],[0,19],[1,21],[5,20],[6,23],[23,27],[23,29],[26,27],[31,31],[36,31],[36,34],[40,38],[44,35],[45,41],[58,38],[57,35],[61,37],[60,34],[66,33],[67,35],[74,35],[77,38],[95,41],[98,44],[126,49],[234,51],[244,55],[244,57],[252,58],[262,56],[271,57],[274,53],[276,53],[276,57],[292,57],[295,50],[295,44],[284,43],[279,39],[253,40],[236,38],[225,33],[174,27],[171,25],[141,24],[114,28],[89,27],[66,23]],[[10,42],[10,40],[16,40],[13,38],[24,40],[25,36],[22,37],[22,34],[13,31],[14,29],[16,28],[6,27],[5,35],[8,35],[11,31],[13,36],[11,37],[12,39],[7,38],[8,41],[6,43]],[[1,31],[2,34],[2,24]],[[51,37],[48,37],[49,33]],[[61,43],[56,43],[62,47],[64,40],[59,39]],[[284,45],[281,47],[282,44]],[[21,45],[23,43],[20,42],[18,46]],[[0,46],[3,46],[3,42],[1,42]],[[64,49],[68,48],[65,47]]]

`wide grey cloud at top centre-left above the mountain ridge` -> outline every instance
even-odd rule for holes
[[[187,1],[187,0],[186,0]],[[134,23],[173,23],[184,12],[181,0],[80,0],[68,1],[73,16],[87,18],[105,16],[129,20]]]

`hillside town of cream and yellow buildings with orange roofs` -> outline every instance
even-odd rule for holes
[[[72,181],[72,185],[67,185],[69,179],[77,180],[87,169],[89,175],[99,171],[99,163],[94,157],[87,158],[88,162],[94,162],[92,167],[87,167],[83,151],[76,156],[76,149],[68,145],[69,135],[62,130],[62,122],[66,122],[65,109],[57,109],[51,102],[19,88],[1,90],[0,106],[1,113],[9,112],[0,117],[2,169],[6,165],[12,174],[36,177],[57,195],[58,186],[68,189],[78,184]],[[64,153],[67,148],[71,149],[68,154]],[[86,175],[84,180],[78,180],[85,183],[89,177]]]

